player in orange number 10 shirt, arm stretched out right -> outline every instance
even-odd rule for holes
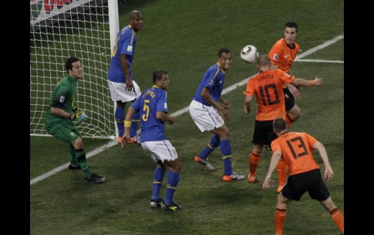
[[[291,83],[299,87],[321,86],[323,78],[314,80],[305,80],[295,78],[280,69],[271,70],[272,64],[267,55],[260,55],[257,60],[257,68],[260,73],[248,79],[245,94],[244,113],[250,113],[252,110],[251,101],[253,96],[257,99],[257,113],[255,120],[255,131],[253,134],[253,150],[249,157],[249,183],[258,183],[256,176],[257,165],[260,161],[260,155],[265,144],[270,145],[276,139],[272,131],[272,122],[278,117],[286,116],[285,102],[283,94],[283,84]]]

